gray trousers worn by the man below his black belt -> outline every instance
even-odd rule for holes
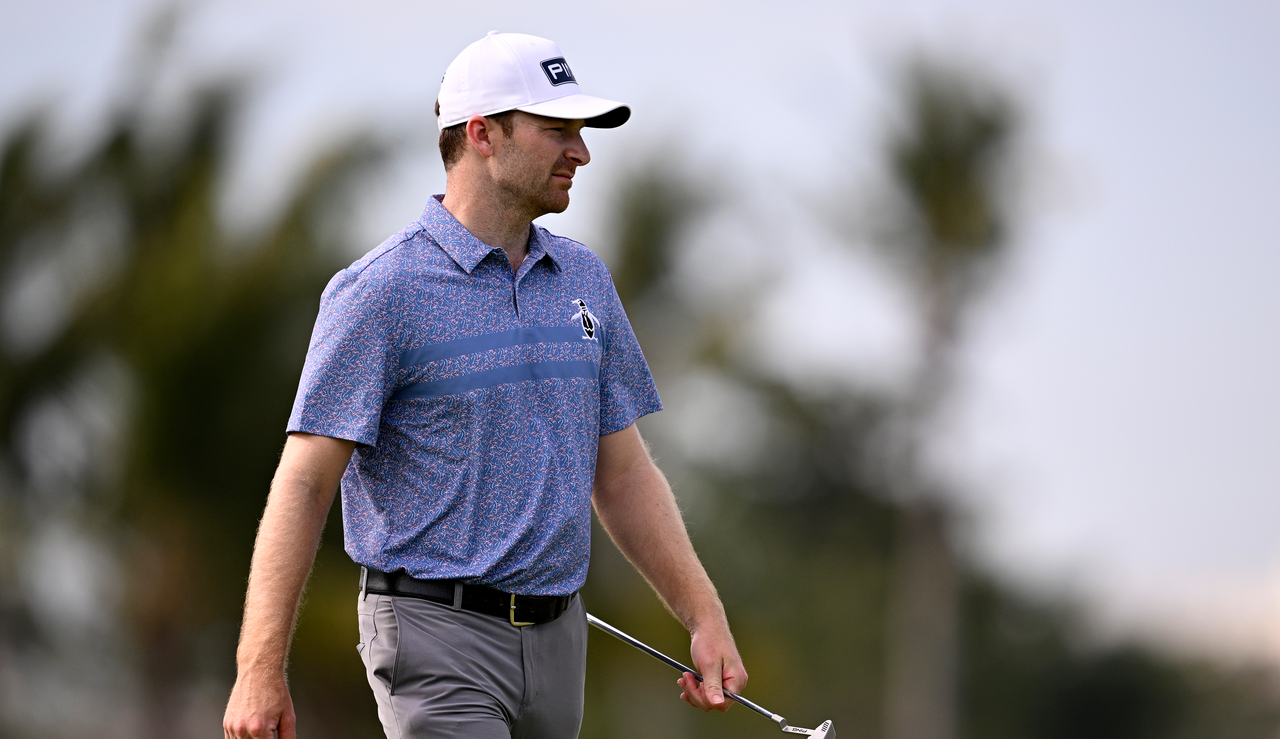
[[[388,739],[573,739],[582,724],[586,610],[535,626],[369,593],[360,656]]]

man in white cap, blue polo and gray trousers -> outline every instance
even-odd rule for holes
[[[544,38],[490,33],[436,102],[444,196],[325,289],[250,573],[230,738],[294,735],[285,656],[342,483],[361,657],[390,739],[572,738],[590,508],[689,628],[726,710],[746,672],[635,420],[660,410],[604,265],[532,227],[590,160],[582,95]]]

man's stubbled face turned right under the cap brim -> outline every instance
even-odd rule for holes
[[[530,218],[563,213],[573,173],[591,160],[582,142],[582,122],[516,111],[511,136],[495,146],[494,179],[512,206]]]

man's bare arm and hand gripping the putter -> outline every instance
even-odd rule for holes
[[[730,701],[721,686],[741,693],[746,670],[724,606],[694,553],[671,485],[634,424],[600,437],[591,501],[604,530],[689,629],[694,667],[707,681],[699,684],[685,672],[678,681],[680,697],[703,711],[727,711]]]

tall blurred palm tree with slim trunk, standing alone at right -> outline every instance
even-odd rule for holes
[[[960,564],[946,497],[920,452],[955,371],[960,325],[1007,248],[1014,105],[980,76],[909,67],[905,124],[890,143],[897,207],[884,247],[922,314],[918,370],[897,419],[893,493],[902,502],[892,573],[886,739],[959,733]]]

